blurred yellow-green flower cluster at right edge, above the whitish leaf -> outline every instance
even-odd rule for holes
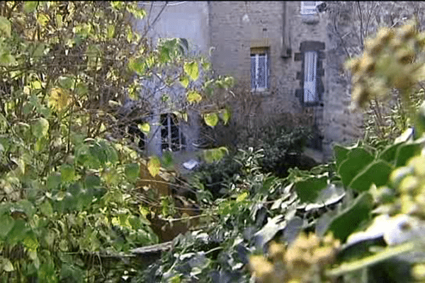
[[[401,212],[425,218],[425,157],[414,156],[390,175],[400,193]]]

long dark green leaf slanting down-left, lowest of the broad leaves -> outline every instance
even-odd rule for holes
[[[370,218],[372,207],[372,195],[369,192],[363,192],[356,197],[351,206],[344,209],[331,220],[327,231],[332,231],[335,238],[339,238],[344,243],[351,233]]]

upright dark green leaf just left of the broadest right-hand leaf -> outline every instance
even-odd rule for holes
[[[363,148],[351,149],[348,152],[347,158],[341,163],[338,168],[338,173],[341,176],[342,183],[348,185],[354,177],[373,161],[373,156]]]

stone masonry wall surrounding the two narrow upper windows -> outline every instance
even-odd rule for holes
[[[153,3],[152,18],[164,5]],[[236,81],[232,120],[238,131],[222,135],[219,142],[237,143],[244,127],[312,125],[317,129],[312,147],[325,161],[331,158],[334,143],[350,144],[363,137],[363,115],[348,110],[351,78],[344,62],[361,52],[361,42],[379,26],[395,26],[412,15],[423,26],[425,4],[316,4],[320,8],[313,14],[301,13],[302,1],[171,1],[166,6],[152,37],[188,38],[198,54],[210,56],[216,74]],[[251,91],[251,54],[259,50],[267,53],[268,87]],[[319,99],[305,103],[305,54],[311,51],[317,54]],[[255,139],[255,132],[249,135]]]

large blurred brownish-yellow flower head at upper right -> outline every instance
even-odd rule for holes
[[[391,88],[411,88],[424,74],[424,63],[416,60],[425,46],[425,33],[415,21],[398,28],[380,28],[365,41],[361,57],[347,62],[352,74],[351,108],[363,107],[368,100],[385,97]]]

